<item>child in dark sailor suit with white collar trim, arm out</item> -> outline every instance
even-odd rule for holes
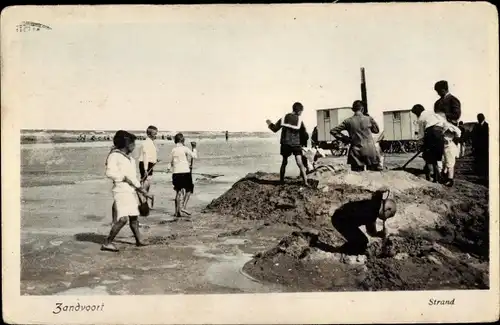
[[[274,133],[281,129],[281,148],[280,153],[283,157],[281,161],[280,168],[280,183],[285,183],[285,172],[286,166],[288,165],[288,158],[294,155],[295,162],[300,169],[300,176],[305,186],[309,186],[307,183],[307,174],[304,163],[302,162],[302,147],[301,147],[301,132],[305,132],[305,125],[302,122],[302,112],[304,111],[304,106],[301,103],[294,103],[292,106],[292,113],[286,114],[283,118],[280,118],[276,123],[272,123],[270,120],[266,120],[267,126]]]

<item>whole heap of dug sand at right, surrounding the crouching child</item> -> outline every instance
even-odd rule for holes
[[[354,173],[342,165],[278,185],[256,173],[237,182],[207,210],[298,230],[257,254],[244,272],[297,290],[422,290],[488,287],[488,189],[457,181],[452,189],[404,171]],[[338,252],[344,238],[331,215],[345,203],[369,199],[386,186],[398,212],[389,237],[371,238],[366,255]],[[378,225],[379,229],[381,225]],[[364,227],[361,228],[365,231]]]

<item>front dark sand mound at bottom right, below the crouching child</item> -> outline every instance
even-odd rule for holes
[[[488,272],[470,255],[418,236],[391,236],[370,245],[367,255],[335,251],[334,232],[294,232],[257,254],[243,271],[297,290],[487,289]],[[465,261],[464,261],[465,260]]]

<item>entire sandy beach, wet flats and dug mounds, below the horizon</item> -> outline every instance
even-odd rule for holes
[[[171,143],[160,143],[160,158]],[[459,289],[488,287],[487,188],[458,168],[445,188],[405,171],[351,173],[345,157],[320,163],[337,174],[313,174],[318,188],[297,183],[297,167],[277,186],[276,139],[207,140],[199,144],[193,215],[172,222],[170,175],[155,174],[155,207],[141,218],[149,244],[136,248],[125,227],[119,253],[100,251],[111,222],[110,184],[103,177],[108,146],[23,146],[21,293],[23,295],[172,294],[291,291]],[[386,157],[387,167],[411,154]],[[51,162],[51,163],[48,163]],[[160,166],[158,170],[161,170]],[[408,168],[422,167],[416,159]],[[258,174],[253,174],[261,171]],[[247,176],[250,174],[249,176]],[[389,186],[399,217],[389,223],[393,254],[380,240],[368,256],[325,247],[342,243],[329,216],[341,204]],[[458,204],[458,205],[457,205]],[[474,221],[475,220],[475,221]],[[323,244],[318,244],[323,243]]]

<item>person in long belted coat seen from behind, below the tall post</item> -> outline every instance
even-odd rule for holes
[[[372,135],[379,133],[377,122],[363,114],[364,107],[360,100],[352,104],[352,110],[354,115],[333,128],[330,134],[350,144],[347,163],[351,165],[352,171],[364,171],[365,166],[368,170],[380,170],[380,157]],[[342,131],[347,131],[349,136],[342,134]]]

